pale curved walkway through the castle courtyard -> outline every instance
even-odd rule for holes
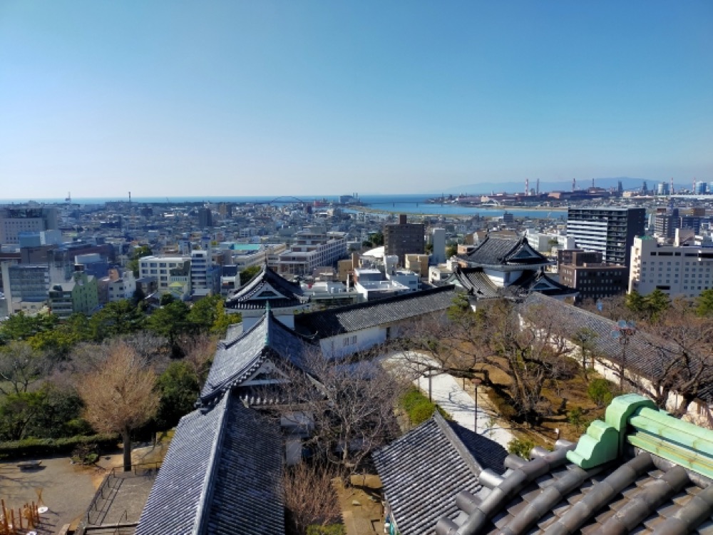
[[[413,374],[412,377],[416,376],[414,384],[421,389],[421,392],[429,394],[429,377],[427,372],[423,374],[421,370],[425,371],[426,366],[438,366],[438,363],[431,357],[416,352],[396,352],[384,357],[382,362],[386,367],[396,365],[400,372]],[[448,412],[455,422],[473,431],[475,402],[473,396],[463,390],[462,381],[463,379],[456,379],[456,377],[445,373],[435,374],[431,377],[431,400]],[[507,448],[508,443],[515,437],[508,427],[503,427],[503,424],[507,426],[498,418],[498,414],[493,410],[486,394],[482,392],[482,389],[479,390],[478,434],[493,439]]]

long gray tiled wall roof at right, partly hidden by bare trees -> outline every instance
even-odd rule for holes
[[[524,306],[556,311],[558,325],[565,333],[574,335],[575,332],[582,329],[596,332],[597,336],[592,340],[594,351],[610,362],[617,364],[621,362],[622,347],[620,342],[612,337],[616,322],[538,293],[530,294],[525,300]],[[533,316],[537,317],[538,315]],[[548,317],[551,316],[548,315]],[[659,377],[664,373],[662,362],[668,362],[676,355],[675,347],[670,342],[639,330],[628,340],[625,365],[628,370],[638,372],[644,377]],[[695,355],[692,356],[695,358]],[[708,395],[713,395],[713,384],[704,384],[699,389],[698,397],[700,399],[706,399]]]

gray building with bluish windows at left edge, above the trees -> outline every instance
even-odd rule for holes
[[[46,265],[2,263],[7,313],[39,312],[47,302],[49,268]]]

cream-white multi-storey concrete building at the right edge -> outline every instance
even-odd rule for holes
[[[653,238],[635,238],[629,291],[648,295],[658,289],[670,297],[697,297],[713,288],[713,248],[680,243],[677,239],[674,245],[661,245]]]

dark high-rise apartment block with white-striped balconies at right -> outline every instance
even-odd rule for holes
[[[634,238],[644,234],[645,208],[569,208],[567,235],[578,248],[601,251],[607,264],[629,265]]]

